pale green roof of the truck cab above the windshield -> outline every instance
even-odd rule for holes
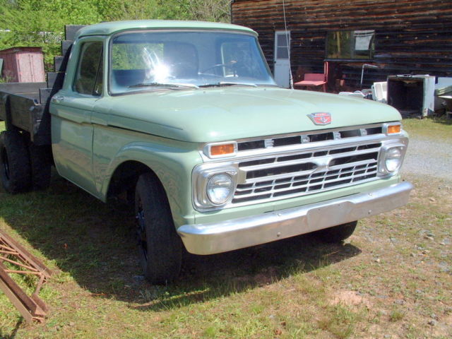
[[[246,28],[230,23],[209,23],[203,21],[184,20],[127,20],[112,21],[108,23],[97,23],[89,25],[78,31],[76,37],[88,35],[112,35],[124,30],[228,30],[236,32],[248,32],[257,36],[251,28]]]

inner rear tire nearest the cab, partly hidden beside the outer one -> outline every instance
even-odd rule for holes
[[[50,184],[51,160],[47,146],[37,146],[30,143],[31,184],[33,191],[47,189]]]

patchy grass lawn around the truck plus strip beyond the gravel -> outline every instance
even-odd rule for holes
[[[403,123],[452,138],[445,120]],[[361,220],[344,244],[306,235],[190,256],[163,287],[143,280],[119,208],[57,174],[48,191],[0,191],[0,228],[56,272],[44,323],[0,294],[0,338],[451,338],[452,182],[405,179],[408,206]]]

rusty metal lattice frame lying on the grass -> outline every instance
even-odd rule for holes
[[[10,269],[4,262],[10,263],[16,269]],[[37,286],[29,297],[9,274],[35,275]],[[0,230],[0,290],[11,300],[25,321],[43,321],[47,314],[47,306],[38,296],[42,285],[52,275],[49,270],[35,256],[18,244],[4,231]]]

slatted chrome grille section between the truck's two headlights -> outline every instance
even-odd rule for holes
[[[376,178],[381,143],[303,150],[238,163],[244,172],[232,204],[313,194]]]

